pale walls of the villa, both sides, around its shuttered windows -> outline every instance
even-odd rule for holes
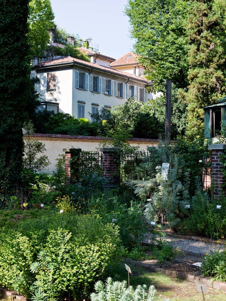
[[[40,79],[40,84],[36,85],[37,92],[40,94],[40,97],[46,99],[46,101],[58,103],[59,112],[68,113],[76,118],[80,117],[78,115],[78,105],[84,106],[84,118],[89,120],[91,120],[89,113],[92,113],[92,107],[96,107],[98,110],[102,107],[111,109],[113,106],[125,103],[127,98],[129,98],[127,89],[129,85],[134,87],[135,97],[139,93],[140,88],[142,88],[144,89],[144,100],[147,101],[147,98],[152,99],[152,94],[145,92],[146,84],[144,82],[136,81],[135,79],[129,79],[128,81],[125,77],[99,70],[93,70],[91,73],[90,71],[89,68],[85,69],[80,66],[74,66],[73,69],[49,69],[48,72],[46,70],[38,70],[37,76]],[[55,91],[47,91],[47,73],[49,72],[56,74]],[[76,88],[76,72],[86,74],[88,79],[87,89]],[[93,76],[98,77],[98,92],[90,91],[90,89],[92,89],[90,80]],[[103,79],[111,80],[111,87],[113,86],[113,88],[110,94],[112,95],[103,93]],[[115,85],[117,86],[118,82],[123,84],[124,93],[122,93],[122,97],[115,95]]]

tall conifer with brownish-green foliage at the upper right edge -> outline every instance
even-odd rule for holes
[[[203,108],[217,103],[226,91],[225,14],[216,9],[214,0],[193,0],[187,26],[190,82],[187,135],[199,135],[204,127]]]

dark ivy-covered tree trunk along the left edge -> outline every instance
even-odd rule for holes
[[[28,0],[0,0],[0,200],[15,195],[21,183],[30,74],[27,16]]]

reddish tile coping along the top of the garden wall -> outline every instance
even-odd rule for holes
[[[24,135],[27,137],[27,135]],[[75,140],[86,140],[86,141],[103,141],[110,140],[109,137],[99,137],[99,136],[71,136],[71,135],[56,135],[56,134],[33,134],[34,138],[52,138],[52,139],[75,139]],[[158,143],[158,139],[147,139],[147,138],[129,138],[130,142],[146,142],[146,143]]]

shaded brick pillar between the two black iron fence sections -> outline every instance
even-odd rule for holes
[[[103,177],[107,180],[107,185],[118,186],[120,184],[120,148],[103,147],[102,169]]]

